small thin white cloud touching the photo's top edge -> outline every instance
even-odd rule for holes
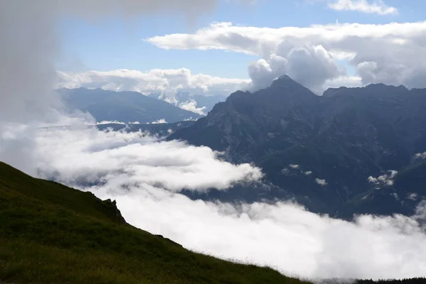
[[[367,0],[334,0],[329,1],[329,8],[337,11],[359,11],[362,13],[377,13],[378,15],[389,15],[398,13],[398,9],[387,6],[383,1]]]

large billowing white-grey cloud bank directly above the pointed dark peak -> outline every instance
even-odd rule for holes
[[[258,55],[261,60],[249,66],[255,86],[265,87],[287,73],[318,92],[320,85],[332,82],[354,87],[376,82],[426,87],[422,80],[426,64],[419,60],[426,56],[425,37],[426,22],[333,23],[304,28],[212,23],[192,34],[175,33],[147,40],[165,49],[218,49]],[[349,74],[346,65],[353,67],[356,75]],[[307,72],[305,77],[301,70]]]

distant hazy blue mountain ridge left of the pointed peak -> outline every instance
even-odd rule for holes
[[[103,89],[60,89],[65,104],[70,109],[89,111],[100,121],[122,121],[141,124],[164,119],[169,123],[199,119],[200,114],[185,111],[138,92],[112,92]]]

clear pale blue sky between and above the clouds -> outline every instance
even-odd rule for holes
[[[143,16],[131,21],[104,18],[102,21],[82,21],[63,18],[58,33],[62,42],[62,60],[58,69],[80,72],[131,69],[147,71],[153,68],[188,68],[192,73],[218,77],[248,78],[249,62],[255,55],[222,50],[163,50],[146,43],[144,38],[170,33],[193,33],[210,23],[232,22],[244,26],[280,28],[305,27],[324,23],[390,23],[424,21],[424,1],[387,0],[398,14],[378,15],[359,11],[334,11],[321,0],[258,0],[254,4],[222,1],[213,13],[188,23],[178,16]]]

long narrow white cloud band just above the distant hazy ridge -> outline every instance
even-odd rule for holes
[[[177,104],[176,92],[192,94],[228,96],[241,89],[250,80],[228,79],[203,74],[192,74],[186,68],[148,72],[138,70],[111,70],[106,72],[89,70],[86,72],[58,72],[57,88],[78,87],[101,88],[111,91],[134,91],[142,94],[160,93],[166,101]],[[184,105],[183,107],[188,107]],[[189,105],[190,107],[190,105]],[[197,110],[195,108],[195,110]],[[200,112],[200,109],[197,110]]]

